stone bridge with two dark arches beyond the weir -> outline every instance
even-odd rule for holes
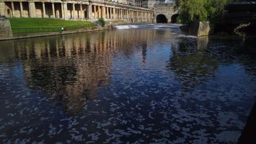
[[[154,22],[155,23],[176,23],[179,11],[174,9],[174,1],[166,0],[154,5]]]

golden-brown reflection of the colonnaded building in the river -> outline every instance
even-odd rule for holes
[[[142,46],[146,58],[147,38],[152,34],[132,29],[19,40],[15,55],[21,59],[28,88],[48,94],[45,97],[59,102],[57,106],[76,113],[97,89],[108,86],[113,54],[129,58],[134,47]]]

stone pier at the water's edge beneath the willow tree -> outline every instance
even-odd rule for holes
[[[189,23],[189,34],[196,36],[211,35],[214,33],[214,26],[209,21],[195,21]]]

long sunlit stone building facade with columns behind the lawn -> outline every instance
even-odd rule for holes
[[[63,20],[153,22],[153,10],[131,5],[131,0],[0,0],[0,15],[50,17]]]

